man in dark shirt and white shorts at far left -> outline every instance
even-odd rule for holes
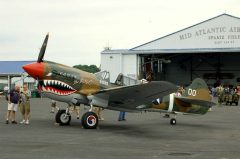
[[[6,124],[9,123],[9,120],[12,120],[12,124],[17,124],[16,122],[16,112],[19,105],[19,86],[15,86],[15,89],[11,90],[8,94],[8,111],[6,117]]]

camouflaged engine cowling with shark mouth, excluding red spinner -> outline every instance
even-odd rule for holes
[[[53,62],[44,62],[43,79],[40,89],[58,95],[79,93],[87,96],[101,89],[94,74]]]

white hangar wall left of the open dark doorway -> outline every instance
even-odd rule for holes
[[[122,73],[125,76],[137,79],[138,56],[136,54],[123,54],[106,52],[101,54],[101,70],[110,72],[110,82],[115,82]]]

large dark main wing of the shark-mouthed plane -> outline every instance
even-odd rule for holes
[[[166,81],[105,89],[90,98],[92,104],[107,109],[136,111],[136,107],[151,104],[154,99],[176,92],[177,87]]]

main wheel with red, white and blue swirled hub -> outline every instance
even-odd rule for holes
[[[85,129],[96,129],[98,126],[98,116],[94,112],[86,112],[82,116],[82,126]]]

